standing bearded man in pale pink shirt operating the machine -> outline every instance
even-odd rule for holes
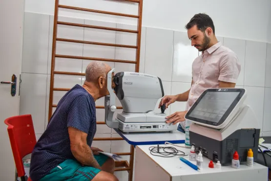
[[[181,122],[178,129],[185,130],[185,115],[208,88],[234,88],[240,73],[240,65],[236,54],[221,45],[215,37],[212,19],[206,14],[196,14],[186,25],[191,45],[201,51],[192,64],[191,88],[177,95],[166,95],[160,102],[167,107],[175,101],[187,101],[186,111],[167,116],[167,123]]]

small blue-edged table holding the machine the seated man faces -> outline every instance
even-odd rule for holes
[[[168,141],[173,144],[185,143],[185,134],[180,131],[169,132],[152,132],[152,133],[124,133],[114,129],[130,145],[154,145],[165,144]]]

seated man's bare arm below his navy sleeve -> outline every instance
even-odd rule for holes
[[[73,156],[83,165],[101,169],[101,166],[93,157],[92,150],[86,144],[87,134],[73,127],[68,127],[68,132]]]

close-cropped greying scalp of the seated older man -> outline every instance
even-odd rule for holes
[[[85,81],[97,83],[99,77],[106,78],[111,67],[100,61],[93,61],[85,69]]]

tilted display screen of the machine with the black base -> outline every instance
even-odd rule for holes
[[[244,89],[208,89],[190,108],[186,119],[209,125],[221,125],[244,93]]]

